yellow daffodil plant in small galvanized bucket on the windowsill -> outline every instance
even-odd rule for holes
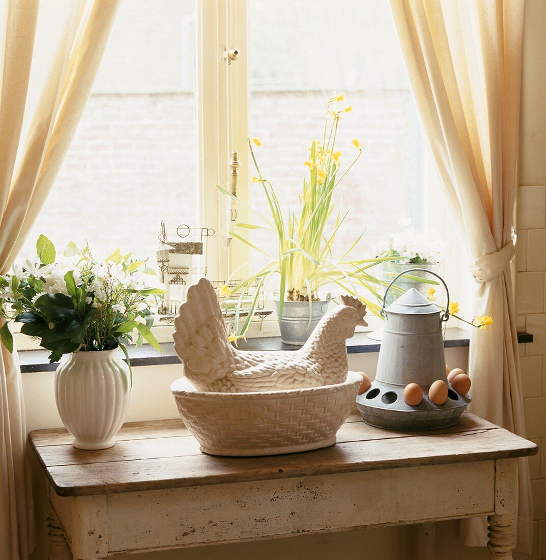
[[[336,145],[338,125],[341,115],[350,112],[351,108],[335,109],[339,101],[343,101],[343,95],[328,100],[322,138],[311,142],[309,158],[304,164],[307,175],[303,180],[297,211],[282,206],[267,175],[262,173],[255,154],[255,147],[260,145],[258,139],[253,141],[249,138],[250,156],[256,172],[253,183],[261,186],[269,213],[263,215],[256,212],[217,185],[227,197],[243,204],[259,218],[258,224],[236,223],[236,229],[230,232],[236,241],[248,245],[263,256],[263,264],[242,278],[231,290],[239,294],[237,303],[232,304],[235,306],[235,332],[232,335],[234,340],[244,337],[256,302],[273,279],[278,282],[275,305],[284,343],[305,342],[328,307],[329,298],[324,297],[321,291],[330,286],[342,288],[344,293],[360,298],[368,310],[379,315],[378,288],[382,282],[370,269],[377,263],[392,258],[354,258],[352,251],[361,240],[363,232],[342,254],[335,254],[335,237],[347,217],[347,213],[342,214],[339,209],[335,211],[335,189],[362,155],[360,143],[353,139],[356,155],[351,164],[342,171],[341,153]],[[277,246],[273,251],[268,247],[256,246],[241,233],[243,230],[254,228],[274,232]],[[241,304],[251,291],[253,293],[250,296],[250,312],[244,321],[240,321]]]

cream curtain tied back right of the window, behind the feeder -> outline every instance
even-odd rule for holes
[[[441,188],[476,281],[475,314],[494,323],[472,330],[472,412],[525,435],[514,256],[524,0],[391,0],[413,94],[442,178]],[[517,548],[530,552],[529,470],[519,473]],[[485,545],[484,520],[463,527],[465,544]]]

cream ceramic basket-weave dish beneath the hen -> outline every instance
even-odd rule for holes
[[[198,391],[185,377],[171,385],[186,427],[210,455],[279,455],[335,444],[362,377],[336,385],[262,393]]]

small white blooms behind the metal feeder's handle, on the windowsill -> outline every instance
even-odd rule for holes
[[[436,234],[418,234],[407,227],[375,246],[377,258],[399,256],[400,264],[436,264],[444,260],[445,246]]]

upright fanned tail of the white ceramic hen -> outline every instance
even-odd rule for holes
[[[186,377],[198,389],[211,390],[215,381],[234,370],[235,350],[227,338],[216,292],[206,278],[190,286],[174,324],[174,349]]]

